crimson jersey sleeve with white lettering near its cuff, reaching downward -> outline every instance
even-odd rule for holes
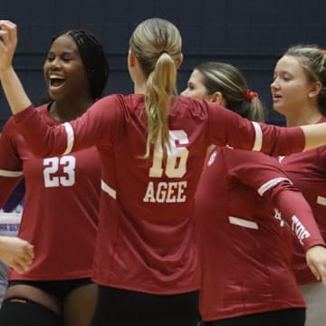
[[[325,245],[311,206],[292,185],[276,158],[245,150],[229,149],[229,152],[231,155],[225,155],[225,162],[230,176],[252,187],[277,208],[305,250]]]

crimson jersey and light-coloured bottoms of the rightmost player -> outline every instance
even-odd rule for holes
[[[326,118],[322,118],[319,122],[325,122]],[[302,191],[303,196],[307,199],[310,206],[312,206],[313,216],[319,228],[321,235],[326,239],[326,147],[319,149],[312,149],[303,153],[292,154],[291,156],[279,158],[283,170],[292,179],[295,187]],[[320,321],[326,320],[326,292],[320,283],[320,290],[315,283],[316,279],[306,264],[304,252],[302,247],[294,242],[294,255],[292,261],[292,268],[297,278],[297,282],[303,287],[303,294],[307,292],[304,298],[307,303],[307,325],[319,325]],[[310,290],[310,286],[313,291]],[[313,292],[320,292],[318,298],[314,298]],[[313,308],[315,303],[319,304]],[[311,307],[312,305],[312,307]],[[315,310],[316,312],[312,312]],[[312,313],[311,313],[312,312]],[[313,323],[314,319],[316,320]]]

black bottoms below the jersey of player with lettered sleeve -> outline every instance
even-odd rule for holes
[[[305,309],[293,308],[274,312],[254,313],[219,321],[205,321],[205,326],[304,326]]]

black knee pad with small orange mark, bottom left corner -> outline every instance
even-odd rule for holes
[[[42,304],[23,297],[5,299],[0,309],[0,325],[5,326],[59,326],[61,317]]]

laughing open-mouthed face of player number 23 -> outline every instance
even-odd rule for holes
[[[72,36],[62,34],[51,45],[43,65],[45,82],[53,101],[90,93],[90,85]]]

